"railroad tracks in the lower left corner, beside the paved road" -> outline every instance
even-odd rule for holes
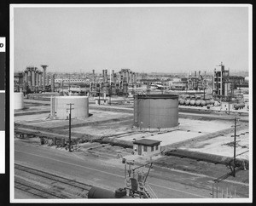
[[[15,163],[15,169],[21,172],[21,178],[15,175],[15,188],[32,193],[38,197],[87,198],[87,193],[91,188],[88,184],[70,180],[59,175],[53,175],[42,170],[32,169],[17,163]],[[44,184],[41,183],[41,186],[32,184],[32,181],[30,181],[32,179],[44,181]]]

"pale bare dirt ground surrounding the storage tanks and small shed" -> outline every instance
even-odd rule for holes
[[[49,106],[34,106],[33,104],[27,104],[26,106],[31,106],[32,111],[40,111],[49,108]],[[127,104],[125,107],[131,107],[131,105]],[[112,136],[111,138],[128,141],[139,140],[142,138],[161,140],[162,146],[177,143],[182,140],[188,140],[186,144],[180,147],[181,149],[196,152],[207,152],[226,157],[232,157],[233,155],[234,147],[231,144],[231,142],[234,140],[234,137],[231,136],[233,133],[224,135],[218,134],[214,138],[196,141],[196,143],[189,141],[192,138],[195,139],[202,135],[218,133],[223,129],[230,129],[234,124],[233,121],[230,120],[210,120],[209,118],[193,116],[179,117],[179,126],[170,129],[169,131],[159,132],[157,130],[140,131],[139,129],[134,129],[132,127],[133,113],[114,112],[114,110],[109,112],[90,109],[90,114],[92,115],[86,119],[73,119],[73,131],[79,134]],[[61,127],[68,125],[67,120],[46,119],[48,115],[49,114],[47,113],[43,113],[17,116],[15,117],[15,123],[34,125],[42,128],[59,128],[62,131],[67,131],[67,128],[61,129]],[[79,126],[81,123],[84,123],[84,125]],[[237,134],[241,135],[237,136],[236,138],[236,140],[238,140],[236,145],[236,154],[238,157],[248,159],[248,127],[241,129]],[[37,141],[35,141],[35,144],[38,144]],[[103,157],[105,162],[113,164],[119,163],[121,157],[131,157],[131,149],[124,149],[120,146],[102,146],[99,143],[86,143],[84,145],[80,145],[80,152]],[[153,160],[154,164],[160,167],[179,169],[183,170],[184,172],[192,172],[201,175],[209,175],[214,178],[230,172],[230,169],[224,165],[198,162],[188,158],[158,156],[154,157]],[[232,180],[231,177],[230,180]],[[248,171],[240,171],[237,173],[236,180],[243,183],[248,183]]]

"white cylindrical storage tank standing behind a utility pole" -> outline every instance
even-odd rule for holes
[[[54,119],[68,119],[69,104],[72,105],[71,118],[89,117],[88,96],[55,96],[50,98],[50,116]]]

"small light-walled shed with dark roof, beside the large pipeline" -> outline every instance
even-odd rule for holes
[[[152,156],[160,153],[160,140],[135,140],[133,141],[133,152],[135,155]]]

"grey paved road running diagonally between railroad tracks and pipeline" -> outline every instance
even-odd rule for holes
[[[15,140],[15,163],[102,186],[114,191],[124,186],[124,166],[82,152],[66,152]],[[148,183],[159,198],[211,198],[211,177],[154,167]],[[20,196],[20,195],[19,195]]]

